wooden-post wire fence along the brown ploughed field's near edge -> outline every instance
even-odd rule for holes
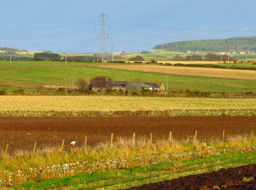
[[[113,133],[112,133],[113,134]],[[198,135],[197,131],[195,131],[194,135],[191,134],[186,134],[186,135],[175,135],[174,133],[172,133],[170,131],[169,135],[163,135],[163,136],[157,136],[154,137],[154,134],[152,134],[152,137],[147,135],[137,135],[135,137],[135,133],[134,133],[134,137],[130,136],[130,137],[123,137],[123,136],[113,136],[111,135],[110,137],[105,137],[102,138],[101,136],[96,136],[96,137],[92,137],[93,139],[90,139],[90,137],[88,137],[88,141],[87,141],[87,137],[86,140],[79,140],[79,141],[75,141],[75,144],[71,144],[71,141],[66,141],[64,139],[64,141],[55,141],[52,142],[51,144],[40,144],[40,142],[36,142],[36,145],[34,144],[35,141],[32,142],[32,144],[28,144],[28,145],[13,145],[13,144],[5,144],[4,142],[2,142],[2,148],[0,149],[2,152],[2,156],[7,156],[7,154],[9,156],[14,156],[14,155],[19,155],[19,154],[28,154],[31,153],[33,154],[33,152],[47,152],[47,151],[72,151],[75,150],[77,148],[94,148],[100,145],[105,145],[105,146],[112,146],[111,144],[113,143],[117,143],[118,140],[123,139],[124,141],[134,141],[133,143],[139,143],[140,141],[145,141],[145,142],[149,142],[151,141],[151,143],[155,143],[159,140],[166,140],[166,141],[176,141],[176,142],[189,142],[192,143],[193,141],[198,141],[198,142],[204,142],[207,143],[209,141],[228,141],[230,139],[230,137],[234,137],[234,135],[228,135],[225,133],[225,131],[223,131],[222,133],[219,134],[213,134],[213,135],[209,135],[209,134],[204,134],[204,135]],[[170,136],[171,135],[171,136]],[[241,134],[238,134],[241,135]],[[251,131],[250,133],[245,133],[244,138],[247,139],[249,138],[252,139],[253,137],[253,131]],[[134,138],[134,139],[133,139]],[[100,140],[97,140],[100,139]],[[86,145],[86,147],[85,147]],[[4,147],[6,146],[6,147]]]

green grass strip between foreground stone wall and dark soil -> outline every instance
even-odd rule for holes
[[[142,165],[130,169],[111,170],[102,173],[78,174],[42,182],[28,182],[23,185],[14,186],[11,189],[53,190],[57,188],[62,190],[116,190],[161,182],[187,175],[218,171],[223,168],[248,165],[255,162],[255,153],[233,153],[159,165]]]

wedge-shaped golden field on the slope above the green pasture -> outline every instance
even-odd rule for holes
[[[143,72],[160,72],[166,74],[177,74],[186,76],[205,76],[220,78],[237,78],[256,80],[256,71],[254,70],[231,70],[218,68],[190,68],[190,67],[172,67],[162,65],[101,65],[104,68],[115,68],[125,70],[136,70]]]

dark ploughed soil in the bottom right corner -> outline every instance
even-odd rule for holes
[[[256,190],[256,164],[145,184],[127,190]],[[252,181],[243,179],[252,177]]]

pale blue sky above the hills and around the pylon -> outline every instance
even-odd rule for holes
[[[256,32],[200,31],[256,31],[255,11],[255,0],[4,1],[0,12],[0,46],[96,53],[100,31],[95,25],[100,22],[101,13],[108,15],[106,22],[111,25],[107,31],[108,52],[111,44],[113,51],[131,52],[181,40],[256,36]]]

